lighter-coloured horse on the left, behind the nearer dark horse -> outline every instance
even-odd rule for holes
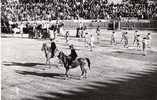
[[[48,64],[49,68],[50,68],[50,59],[52,58],[51,57],[51,46],[50,46],[50,44],[43,43],[41,51],[44,51],[45,58],[46,58],[46,65]],[[54,57],[55,57],[56,51],[57,51],[57,49],[55,49],[55,51],[54,51]]]

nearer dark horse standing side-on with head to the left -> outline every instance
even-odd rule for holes
[[[87,68],[85,67],[85,65],[88,64],[88,67],[90,69],[89,58],[76,58],[76,60],[74,60],[69,65],[69,57],[67,55],[65,55],[62,51],[59,52],[57,57],[62,61],[64,68],[66,69],[66,72],[65,72],[66,77],[68,77],[69,69],[76,68],[76,67],[80,66],[81,71],[82,71],[81,78],[82,77],[87,78]]]

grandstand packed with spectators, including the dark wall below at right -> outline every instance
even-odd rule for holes
[[[27,22],[64,20],[64,25],[67,27],[69,23],[80,19],[90,20],[90,22],[105,20],[101,27],[108,29],[129,29],[130,27],[156,29],[157,25],[154,24],[157,19],[157,3],[148,0],[135,1],[31,0],[28,2],[28,0],[2,0],[2,32],[8,33],[8,29],[12,30],[14,27],[10,25],[11,23],[24,22],[26,24]],[[75,23],[72,25],[77,26]]]

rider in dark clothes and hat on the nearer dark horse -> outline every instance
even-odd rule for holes
[[[69,65],[71,65],[72,62],[77,58],[77,53],[76,53],[73,45],[70,45],[69,48],[71,50],[71,53],[68,56],[68,58],[69,58]]]

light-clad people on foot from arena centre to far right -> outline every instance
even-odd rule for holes
[[[96,35],[93,34],[89,34],[86,30],[87,27],[85,26],[82,28],[77,28],[80,29],[81,31],[78,31],[78,36],[79,38],[84,38],[84,43],[85,43],[85,47],[89,47],[90,51],[93,50],[94,48],[94,43],[100,43],[101,42],[101,29],[100,26],[98,26],[96,28]],[[121,39],[120,41],[118,41],[119,37],[116,37],[116,35],[119,35],[116,31],[113,31],[111,34],[111,39],[110,39],[110,44],[113,46],[116,46],[118,44],[122,44],[124,48],[129,48],[129,36],[128,36],[128,32],[122,32],[121,35]],[[151,33],[147,33],[147,34],[141,34],[140,32],[138,32],[137,30],[135,30],[134,33],[132,33],[133,35],[133,46],[135,46],[138,50],[142,50],[143,51],[143,55],[145,56],[147,54],[147,48],[151,48]],[[132,37],[132,36],[131,36]],[[66,32],[65,34],[65,40],[66,43],[69,41],[69,31]]]

